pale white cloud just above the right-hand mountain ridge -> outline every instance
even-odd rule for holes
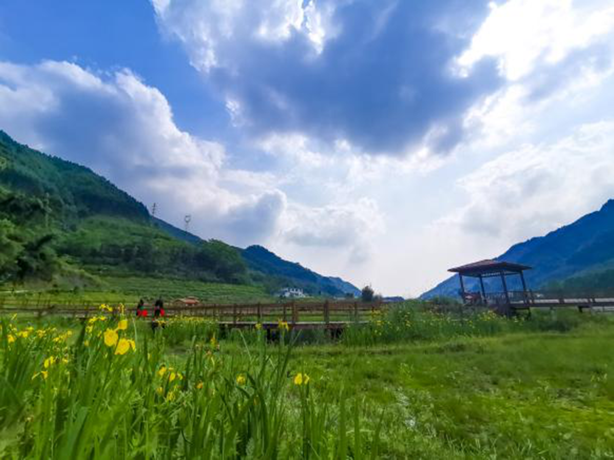
[[[614,196],[613,158],[611,120],[552,144],[527,144],[459,179],[468,204],[438,224],[507,244],[543,235]]]

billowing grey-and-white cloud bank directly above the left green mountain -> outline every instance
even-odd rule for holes
[[[0,126],[90,166],[147,205],[157,202],[172,222],[192,214],[204,236],[265,241],[286,207],[270,176],[227,168],[221,144],[179,130],[165,96],[128,70],[0,63]]]

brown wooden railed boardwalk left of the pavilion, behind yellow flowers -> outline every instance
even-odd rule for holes
[[[34,316],[64,316],[67,318],[91,318],[101,314],[97,305],[53,304],[43,308],[28,305],[3,305],[0,314],[32,314]],[[113,303],[117,306],[119,303]],[[146,305],[152,318],[153,306]],[[209,319],[220,327],[228,329],[250,328],[257,324],[263,329],[277,329],[287,324],[292,329],[333,329],[339,330],[348,324],[368,322],[384,308],[381,302],[330,301],[322,302],[283,302],[283,303],[244,303],[230,305],[211,305],[203,303],[173,302],[165,307],[166,316],[187,316]],[[136,314],[136,308],[126,308],[126,313]],[[104,312],[102,312],[104,313]],[[106,313],[107,314],[107,313]]]

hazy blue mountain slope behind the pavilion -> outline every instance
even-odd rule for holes
[[[587,272],[614,268],[614,200],[609,200],[599,211],[591,212],[573,224],[515,244],[497,259],[533,267],[526,272],[527,283],[533,289],[548,284],[552,286],[555,282]],[[514,288],[512,285],[511,289]],[[422,294],[422,298],[456,295],[458,289],[457,277],[451,276]],[[475,285],[468,283],[468,289],[475,289]]]

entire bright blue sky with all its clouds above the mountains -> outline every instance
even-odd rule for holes
[[[413,297],[614,198],[610,0],[3,0],[0,129]]]

